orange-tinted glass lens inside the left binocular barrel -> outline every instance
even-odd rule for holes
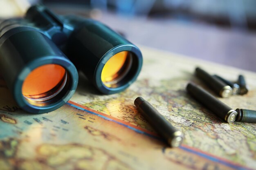
[[[59,93],[67,74],[65,68],[57,64],[47,64],[34,69],[24,80],[22,95],[32,100],[47,100]]]

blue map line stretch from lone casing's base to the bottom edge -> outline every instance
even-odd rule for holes
[[[184,147],[184,146],[180,146],[179,148],[181,148],[181,149],[183,149],[183,150],[186,150],[186,151],[188,151],[188,152],[194,153],[194,154],[196,154],[196,155],[198,155],[198,156],[200,156],[200,157],[204,157],[204,158],[206,158],[206,159],[209,159],[209,160],[211,160],[211,161],[221,163],[221,164],[223,164],[223,165],[225,165],[225,166],[229,166],[230,168],[234,168],[234,169],[236,169],[236,170],[250,170],[250,169],[248,169],[248,168],[241,167],[241,166],[238,166],[238,165],[234,165],[234,164],[229,163],[229,162],[227,162],[227,161],[223,161],[223,160],[218,159],[218,158],[216,158],[216,157],[213,157],[213,156],[211,156],[211,155],[207,155],[207,154],[205,154],[205,153],[198,152],[198,151],[195,151],[195,150],[193,150],[193,149],[186,148],[186,147]]]

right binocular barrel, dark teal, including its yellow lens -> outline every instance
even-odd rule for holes
[[[142,66],[138,47],[97,21],[78,27],[67,44],[67,56],[76,67],[104,94],[130,86]]]

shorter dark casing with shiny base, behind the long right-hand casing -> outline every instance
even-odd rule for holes
[[[217,77],[211,76],[201,68],[195,68],[195,75],[202,79],[210,88],[213,89],[220,97],[229,97],[232,95],[232,88],[222,82]]]

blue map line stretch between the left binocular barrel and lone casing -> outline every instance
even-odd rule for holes
[[[126,128],[129,128],[129,129],[131,129],[131,130],[134,130],[135,132],[138,132],[138,133],[141,133],[141,134],[144,134],[144,135],[153,137],[153,138],[155,138],[155,139],[160,139],[159,137],[150,135],[150,134],[148,134],[147,132],[143,132],[143,131],[141,131],[141,130],[138,130],[138,129],[136,129],[136,128],[133,128],[133,127],[131,127],[131,126],[128,126],[128,125],[126,125],[126,124],[122,124],[122,123],[119,122],[119,121],[115,121],[115,120],[113,120],[113,119],[110,119],[110,118],[105,117],[105,116],[103,116],[103,115],[100,115],[100,114],[94,113],[94,112],[92,112],[92,111],[86,110],[86,109],[81,108],[81,107],[79,107],[79,106],[76,106],[76,105],[74,105],[74,104],[70,104],[70,103],[67,103],[67,104],[69,104],[70,106],[72,106],[72,107],[74,107],[74,108],[77,108],[77,109],[79,109],[79,110],[83,110],[83,111],[86,111],[86,112],[88,112],[88,113],[90,113],[90,114],[93,114],[93,115],[97,115],[97,116],[99,116],[99,117],[102,117],[103,119],[110,120],[110,121],[114,121],[114,122],[117,123],[117,124],[120,124],[120,125],[122,125],[122,126],[125,126]]]

